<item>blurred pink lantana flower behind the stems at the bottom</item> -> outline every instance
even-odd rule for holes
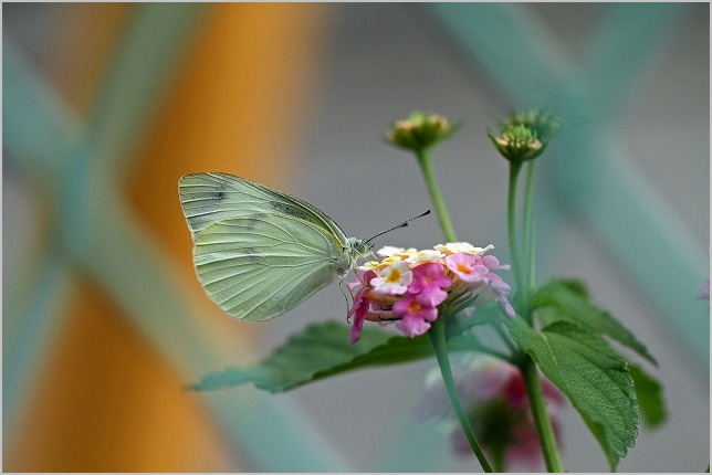
[[[483,450],[498,460],[500,469],[536,469],[542,465],[536,432],[524,378],[519,369],[492,357],[465,357],[452,368],[456,388],[475,437]],[[541,377],[546,411],[561,445],[561,412],[565,399],[546,378]],[[439,370],[426,378],[426,392],[416,408],[419,418],[439,419],[450,433],[457,454],[472,456],[472,450],[460,428]]]

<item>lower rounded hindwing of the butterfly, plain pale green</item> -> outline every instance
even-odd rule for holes
[[[193,249],[198,281],[210,299],[243,320],[284,314],[343,275],[353,255],[310,221],[264,213],[208,225]]]

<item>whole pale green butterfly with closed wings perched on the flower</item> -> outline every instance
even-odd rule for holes
[[[178,196],[198,281],[240,320],[284,314],[343,278],[373,249],[306,201],[244,178],[186,175]]]

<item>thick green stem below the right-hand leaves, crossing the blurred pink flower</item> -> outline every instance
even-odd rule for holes
[[[542,443],[542,453],[546,462],[546,469],[548,472],[564,472],[564,464],[558,453],[554,426],[548,416],[548,411],[546,411],[546,400],[544,399],[544,391],[536,363],[531,357],[526,357],[520,369],[526,383],[526,393],[530,399],[530,407],[532,408],[536,431]]]

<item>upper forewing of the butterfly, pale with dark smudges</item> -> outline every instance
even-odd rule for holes
[[[346,235],[323,211],[304,200],[227,173],[186,175],[178,181],[180,204],[196,236],[210,224],[244,214],[285,214],[323,228],[344,244]]]

